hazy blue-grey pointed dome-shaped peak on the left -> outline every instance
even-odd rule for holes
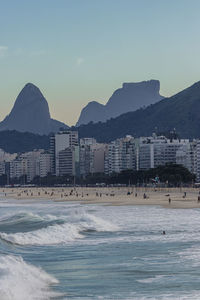
[[[38,87],[28,83],[19,93],[10,114],[0,122],[0,131],[17,130],[36,134],[57,132],[68,128],[62,122],[51,119],[49,106]]]

